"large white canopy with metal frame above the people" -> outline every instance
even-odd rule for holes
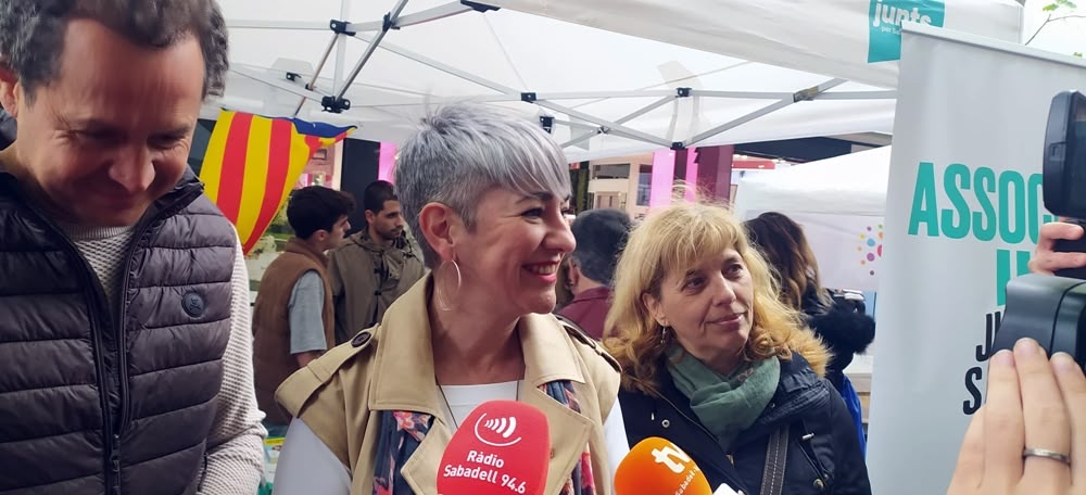
[[[232,67],[204,116],[296,115],[399,142],[428,107],[473,100],[543,117],[570,161],[889,132],[897,63],[868,63],[886,48],[875,1],[222,0]],[[947,28],[1019,41],[1012,0],[942,11]]]

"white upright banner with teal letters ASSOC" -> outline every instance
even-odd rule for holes
[[[945,493],[1003,285],[1039,226],[1048,109],[1081,60],[908,27],[886,200],[870,448],[879,495]]]

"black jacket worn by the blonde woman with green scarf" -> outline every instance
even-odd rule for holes
[[[661,397],[622,389],[619,401],[630,445],[649,436],[667,439],[689,454],[716,490],[728,484],[744,494],[761,488],[770,435],[790,431],[783,495],[871,493],[868,469],[853,419],[841,395],[793,353],[781,361],[781,381],[761,416],[724,452],[698,421],[690,399],[660,366]]]

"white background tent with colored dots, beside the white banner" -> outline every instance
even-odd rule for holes
[[[787,215],[804,226],[825,287],[875,291],[889,156],[883,147],[746,177],[735,214]]]

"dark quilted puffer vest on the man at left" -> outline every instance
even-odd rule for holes
[[[109,307],[0,169],[0,494],[188,494],[230,333],[237,237],[191,173],[153,204]]]

